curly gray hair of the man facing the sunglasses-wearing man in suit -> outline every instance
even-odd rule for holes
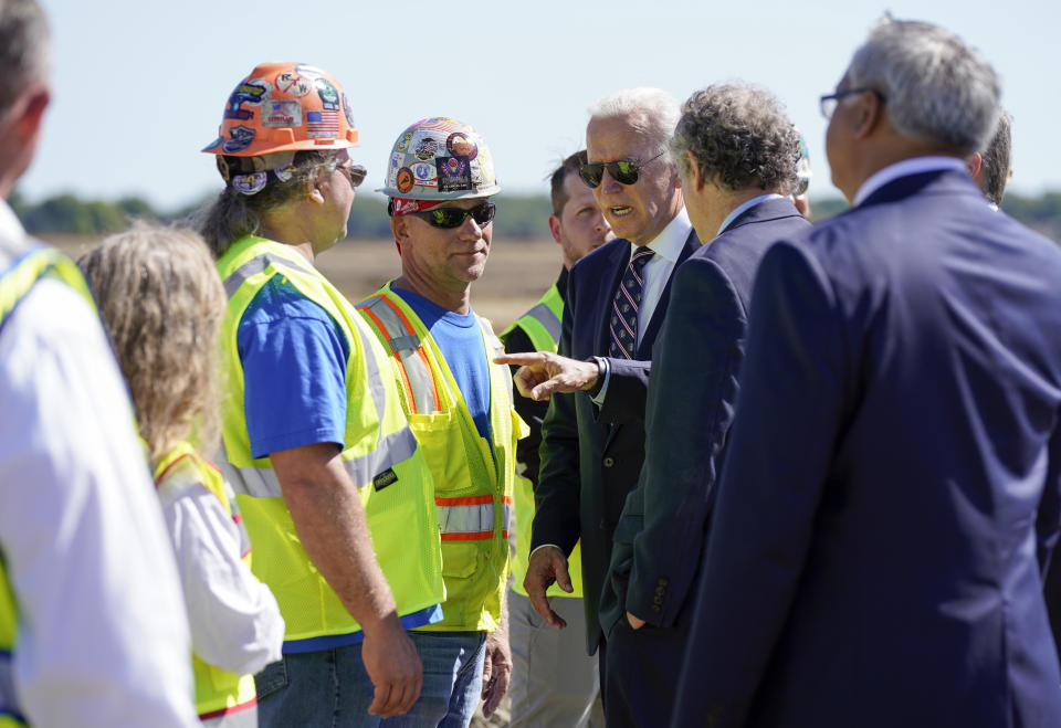
[[[690,176],[691,151],[704,177],[718,187],[796,190],[799,131],[780,102],[765,88],[715,84],[682,106],[671,154],[682,177]]]

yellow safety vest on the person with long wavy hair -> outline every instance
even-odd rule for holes
[[[251,566],[251,539],[243,527],[239,507],[234,504],[232,487],[221,473],[197,454],[188,443],[180,443],[155,466],[155,487],[175,489],[178,494],[191,492],[201,485],[217,496],[225,513],[240,530],[240,556]],[[208,725],[258,725],[258,697],[253,675],[233,675],[220,667],[191,656],[196,677],[196,711]],[[239,716],[237,716],[239,714]],[[223,721],[223,724],[222,724]]]

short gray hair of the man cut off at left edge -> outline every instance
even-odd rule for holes
[[[28,84],[48,80],[48,20],[36,0],[0,0],[0,114]]]

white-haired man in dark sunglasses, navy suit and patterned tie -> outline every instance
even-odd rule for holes
[[[597,619],[611,558],[612,531],[627,493],[637,484],[644,457],[643,413],[618,421],[629,409],[627,390],[644,388],[639,361],[666,313],[674,268],[700,247],[682,201],[681,182],[668,143],[680,116],[673,97],[651,88],[618,92],[590,109],[586,130],[588,163],[582,180],[618,236],[571,267],[559,354],[574,359],[577,384],[551,398],[542,425],[542,465],[524,588],[549,624],[564,626],[545,590],[554,581],[570,591],[567,557],[581,538],[587,650],[605,641]],[[592,361],[585,360],[592,358]],[[556,355],[500,358],[529,365],[521,370],[521,393],[534,399],[553,391]],[[628,387],[627,380],[633,379]],[[529,384],[529,386],[528,386]],[[585,391],[578,391],[585,390]],[[644,402],[641,394],[640,401]],[[609,686],[599,656],[605,715]]]

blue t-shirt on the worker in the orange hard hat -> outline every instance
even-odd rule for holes
[[[251,454],[319,442],[346,447],[346,361],[350,348],[338,323],[282,275],[258,292],[237,329],[243,365],[243,412]],[[412,630],[442,619],[439,604],[400,618]],[[357,644],[358,630],[287,640],[284,654]]]

